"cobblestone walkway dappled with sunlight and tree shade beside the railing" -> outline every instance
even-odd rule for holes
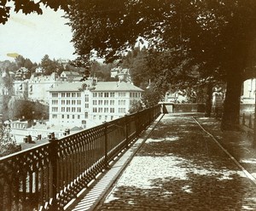
[[[166,115],[94,210],[256,210],[256,186],[192,117]]]

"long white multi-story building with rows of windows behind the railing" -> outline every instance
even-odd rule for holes
[[[125,116],[143,89],[131,83],[61,83],[49,90],[49,123],[69,128],[91,128]]]

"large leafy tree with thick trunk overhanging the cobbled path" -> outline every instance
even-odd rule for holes
[[[199,78],[224,80],[223,129],[236,128],[241,83],[256,75],[255,17],[253,0],[91,0],[74,2],[67,11],[81,60],[90,58],[92,50],[116,60],[143,37],[149,48],[171,50],[177,66],[183,64],[177,55],[185,54],[188,66],[199,67]]]

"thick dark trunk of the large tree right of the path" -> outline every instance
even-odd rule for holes
[[[227,80],[224,114],[221,122],[222,130],[239,130],[241,84],[242,79],[236,72],[233,72],[233,76]]]

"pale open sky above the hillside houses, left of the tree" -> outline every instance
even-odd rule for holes
[[[45,54],[51,60],[75,59],[71,27],[62,15],[60,9],[44,9],[41,15],[11,12],[7,23],[0,24],[0,61],[14,61],[7,55],[13,53],[37,63]]]

